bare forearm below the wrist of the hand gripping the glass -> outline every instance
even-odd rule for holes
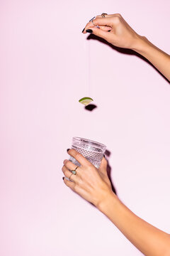
[[[147,256],[170,255],[170,235],[137,217],[114,194],[98,206],[113,224]]]

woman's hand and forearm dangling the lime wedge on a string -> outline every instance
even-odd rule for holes
[[[106,15],[105,18],[96,16],[82,32],[94,33],[113,46],[135,50],[170,81],[170,55],[150,43],[145,36],[138,35],[120,14]]]

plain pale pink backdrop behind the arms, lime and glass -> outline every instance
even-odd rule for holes
[[[106,144],[118,196],[170,230],[170,87],[81,31],[120,13],[169,52],[169,1],[0,1],[0,255],[141,255],[62,181],[73,136]],[[78,100],[94,98],[89,112]]]

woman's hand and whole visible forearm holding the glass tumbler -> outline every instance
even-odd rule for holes
[[[64,160],[64,175],[69,178],[72,174],[72,181],[64,178],[64,183],[69,188],[101,210],[144,255],[170,255],[170,235],[137,217],[115,196],[106,171],[106,159],[103,158],[100,169],[96,169],[74,149],[70,149],[68,154],[81,164],[74,175],[69,170],[74,170],[77,166]]]

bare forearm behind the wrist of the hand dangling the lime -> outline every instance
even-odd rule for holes
[[[132,50],[147,58],[157,70],[170,80],[170,55],[154,46],[143,36],[137,39]]]

